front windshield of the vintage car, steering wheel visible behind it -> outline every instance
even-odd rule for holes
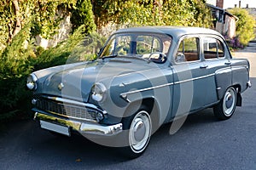
[[[122,33],[111,37],[102,50],[100,58],[140,57],[151,59],[166,57],[172,38],[159,33]],[[158,54],[158,55],[155,55]]]

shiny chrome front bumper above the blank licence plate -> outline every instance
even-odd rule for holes
[[[93,134],[98,136],[113,136],[123,131],[123,124],[118,123],[114,125],[102,125],[92,122],[81,122],[77,120],[70,120],[56,116],[50,116],[48,114],[36,112],[34,120],[42,120],[45,122],[55,123],[61,126],[72,128],[82,134]]]

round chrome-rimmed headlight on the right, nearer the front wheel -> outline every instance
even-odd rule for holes
[[[96,82],[91,88],[91,98],[102,102],[106,98],[107,88],[101,82]]]

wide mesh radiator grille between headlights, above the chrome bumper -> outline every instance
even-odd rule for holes
[[[96,121],[96,111],[91,111],[84,106],[59,103],[54,100],[40,98],[37,99],[36,107],[43,111],[59,114],[61,116],[74,117]]]

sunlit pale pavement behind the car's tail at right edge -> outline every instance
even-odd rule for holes
[[[232,52],[237,59],[248,59],[251,65],[250,77],[256,77],[256,41],[249,42],[248,46],[237,52]]]

